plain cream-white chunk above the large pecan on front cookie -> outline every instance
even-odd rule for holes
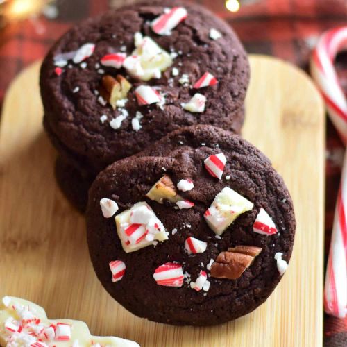
[[[250,211],[252,208],[253,203],[251,201],[248,201],[235,190],[225,187],[216,195],[212,205],[203,216],[208,226],[217,235],[222,235],[240,214]]]

